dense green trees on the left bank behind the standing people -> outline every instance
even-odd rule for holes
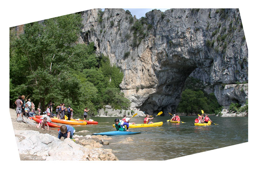
[[[94,115],[106,104],[129,107],[119,89],[120,68],[97,56],[94,43],[77,43],[81,24],[80,14],[71,14],[25,24],[23,33],[10,28],[10,107],[18,95],[42,111],[50,102],[71,105],[74,116],[85,107]]]

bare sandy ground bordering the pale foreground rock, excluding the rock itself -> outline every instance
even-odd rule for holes
[[[58,137],[58,128],[53,128],[53,127],[49,127],[49,131],[47,130],[47,127],[46,129],[41,129],[40,128],[37,128],[37,123],[35,123],[34,120],[30,120],[30,119],[27,119],[27,122],[29,123],[24,123],[24,122],[19,122],[16,120],[17,116],[16,116],[16,111],[15,109],[12,109],[10,108],[10,115],[11,115],[11,120],[12,120],[12,126],[13,126],[13,129],[15,130],[34,130],[34,131],[38,131],[39,133],[42,133],[42,134],[50,134],[50,135],[53,135],[54,137]],[[61,124],[60,124],[61,125]],[[63,141],[64,139],[62,139]],[[37,156],[34,156],[34,155],[22,155],[20,154],[20,160],[23,161],[23,160],[42,160],[41,157],[37,157]]]

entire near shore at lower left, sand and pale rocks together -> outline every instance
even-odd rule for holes
[[[57,138],[57,129],[37,129],[36,123],[30,119],[19,122],[16,120],[15,110],[11,108],[10,114],[20,160],[118,160],[111,149],[101,148],[103,145],[109,145],[108,140],[112,139],[110,137],[75,134],[75,140],[60,140]]]

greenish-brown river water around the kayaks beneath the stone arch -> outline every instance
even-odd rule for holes
[[[91,135],[116,130],[112,124],[121,117],[93,117],[97,125],[74,126],[76,132],[88,130]],[[111,136],[110,144],[104,149],[112,149],[119,160],[167,160],[185,155],[200,153],[221,147],[248,142],[248,117],[215,117],[210,119],[211,126],[195,126],[196,116],[181,116],[186,123],[170,123],[170,116],[157,116],[152,122],[163,122],[161,127],[130,128],[129,131],[140,131],[140,134]],[[83,118],[81,118],[83,119]],[[143,123],[144,117],[133,117],[135,123]],[[131,137],[133,141],[122,143]]]

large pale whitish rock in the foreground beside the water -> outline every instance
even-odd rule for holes
[[[37,155],[46,161],[118,160],[112,150],[100,149],[102,145],[93,138],[88,144],[90,148],[87,148],[70,138],[61,141],[49,134],[40,134],[33,130],[15,130],[14,132],[19,154]]]

